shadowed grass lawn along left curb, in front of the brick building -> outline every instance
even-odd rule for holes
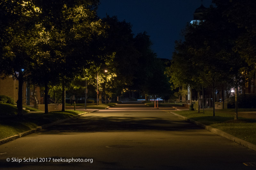
[[[47,123],[84,113],[83,111],[67,110],[65,112],[49,112],[49,114],[31,113],[24,114],[22,117],[18,117],[16,115],[17,107],[15,108],[13,105],[0,103],[0,109],[2,115],[0,117],[0,139],[17,135],[21,132],[36,128]],[[24,113],[26,113],[26,111]]]

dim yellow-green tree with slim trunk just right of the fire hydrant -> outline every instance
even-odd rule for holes
[[[170,82],[173,84],[173,89],[182,86],[183,91],[186,88],[189,88],[190,93],[192,89],[197,90],[198,112],[200,112],[199,96],[203,83],[203,71],[200,67],[200,63],[202,63],[202,52],[198,49],[200,49],[202,46],[198,43],[200,40],[199,35],[189,34],[194,31],[194,29],[194,26],[188,25],[186,27],[186,31],[184,31],[184,37],[186,41],[176,41],[175,52],[173,53],[172,57],[172,64],[166,73],[170,76]],[[192,104],[191,95],[190,104]]]

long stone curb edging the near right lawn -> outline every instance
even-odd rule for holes
[[[236,142],[236,143],[238,143],[238,144],[241,144],[241,145],[243,145],[243,146],[245,146],[245,147],[247,147],[247,148],[249,148],[249,149],[251,149],[251,150],[253,150],[253,151],[256,151],[256,145],[255,145],[255,144],[252,144],[252,143],[247,142],[247,141],[245,141],[245,140],[243,140],[243,139],[240,139],[240,138],[238,138],[238,137],[235,137],[235,136],[233,136],[233,135],[230,135],[230,134],[228,134],[228,133],[226,133],[226,132],[223,132],[223,131],[220,130],[220,129],[216,129],[216,128],[213,128],[213,127],[211,127],[211,126],[205,125],[205,124],[203,124],[203,123],[197,122],[197,121],[195,121],[195,120],[189,119],[189,118],[187,118],[187,117],[185,117],[185,116],[178,115],[178,114],[173,113],[173,112],[170,112],[170,113],[172,113],[172,114],[175,115],[175,116],[180,117],[180,118],[183,119],[183,120],[186,120],[187,122],[194,123],[194,124],[196,124],[196,125],[198,125],[198,126],[201,126],[202,128],[204,128],[204,129],[206,129],[206,130],[209,130],[209,131],[211,131],[211,132],[213,132],[213,133],[215,133],[215,134],[217,134],[217,135],[220,135],[220,136],[222,136],[222,137],[225,137],[225,138],[227,138],[227,139],[229,139],[229,140],[232,140],[232,141],[234,141],[234,142]]]

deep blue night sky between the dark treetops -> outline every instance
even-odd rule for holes
[[[211,2],[203,0],[203,5],[208,8]],[[101,0],[100,3],[100,18],[107,13],[110,17],[116,15],[119,21],[130,22],[135,36],[146,31],[157,57],[171,59],[174,41],[181,39],[181,30],[193,19],[201,0]]]

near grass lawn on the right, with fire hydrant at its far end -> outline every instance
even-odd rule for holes
[[[201,110],[203,111],[203,110]],[[238,112],[255,111],[255,109],[238,109]],[[205,109],[205,113],[197,111],[172,111],[189,119],[210,125],[235,137],[256,144],[256,120],[239,117],[234,120],[234,109],[215,110],[213,117],[212,109]]]

